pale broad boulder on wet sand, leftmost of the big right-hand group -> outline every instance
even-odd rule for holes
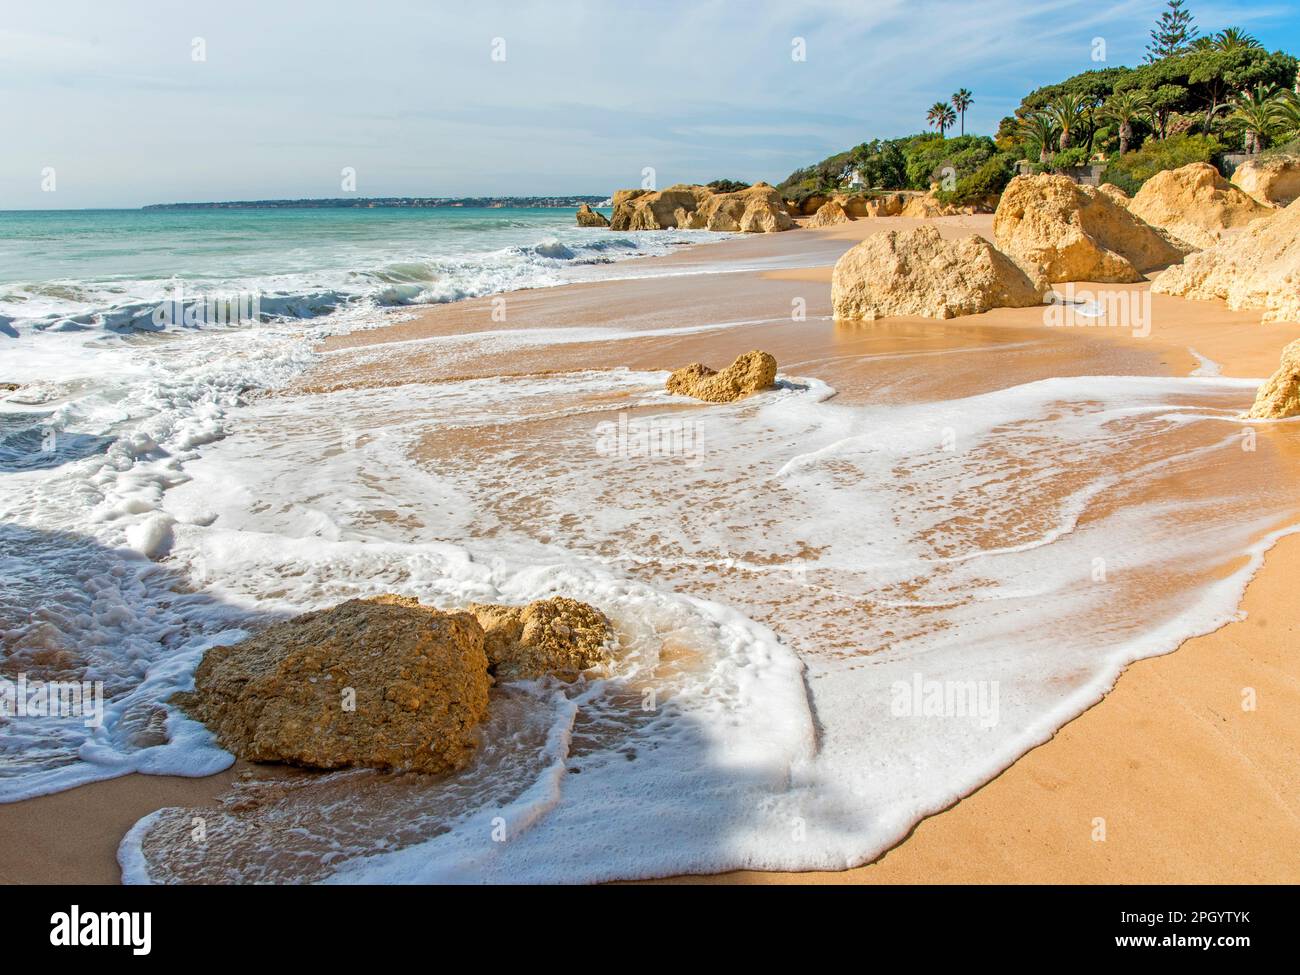
[[[945,240],[932,226],[874,234],[831,277],[836,318],[952,318],[1040,304],[1044,290],[984,238]]]

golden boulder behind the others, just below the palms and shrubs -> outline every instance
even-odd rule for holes
[[[1273,211],[1232,186],[1209,162],[1156,173],[1128,203],[1128,212],[1174,237],[1213,247],[1218,234],[1247,226]]]

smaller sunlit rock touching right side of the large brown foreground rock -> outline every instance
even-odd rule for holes
[[[488,666],[498,681],[547,673],[572,679],[608,659],[610,621],[577,599],[554,597],[526,606],[471,603],[469,612],[482,627]]]

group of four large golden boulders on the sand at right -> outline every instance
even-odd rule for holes
[[[1035,304],[1057,282],[1132,283],[1164,269],[1154,291],[1300,320],[1297,221],[1294,203],[1265,205],[1204,162],[1153,177],[1132,199],[1022,176],[1002,194],[992,244],[933,228],[868,237],[836,264],[832,303],[837,318],[948,318]]]

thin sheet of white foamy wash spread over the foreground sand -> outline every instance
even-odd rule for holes
[[[864,360],[862,382],[941,368],[933,348],[907,358]],[[172,559],[205,592],[285,608],[566,593],[611,616],[620,659],[576,686],[499,692],[460,776],[251,784],[202,852],[187,823],[211,831],[211,811],[156,814],[124,845],[129,876],[859,863],[1126,663],[1230,618],[1294,500],[1271,486],[1269,437],[1242,448],[1248,381],[1087,376],[863,406],[783,376],[706,406],[663,378],[407,384],[246,411],[166,498]],[[277,486],[303,471],[291,497]]]

